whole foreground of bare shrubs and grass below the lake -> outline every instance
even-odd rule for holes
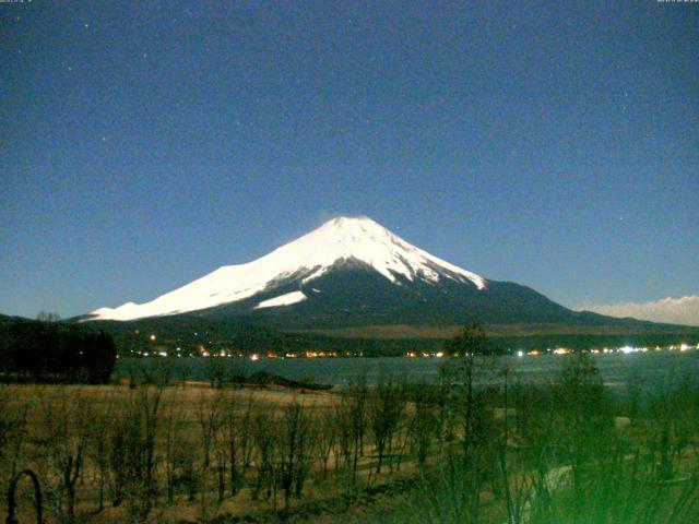
[[[699,522],[695,378],[611,397],[583,354],[522,384],[481,338],[423,384],[4,385],[0,485],[32,469],[46,522]]]

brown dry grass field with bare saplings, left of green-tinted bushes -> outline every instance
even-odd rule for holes
[[[0,394],[2,486],[35,472],[46,522],[266,520],[343,498],[345,483],[374,486],[415,469],[382,456],[377,474],[369,428],[362,437],[351,428],[351,417],[364,426],[368,414],[351,414],[346,392],[188,383],[4,385]],[[34,519],[29,487],[20,485],[20,522]]]

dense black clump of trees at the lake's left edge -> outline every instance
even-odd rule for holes
[[[114,338],[75,324],[13,320],[0,323],[0,380],[5,382],[109,381]]]

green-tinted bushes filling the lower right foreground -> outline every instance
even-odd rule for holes
[[[699,522],[696,379],[654,391],[631,384],[614,400],[595,377],[579,355],[550,384],[506,384],[493,408],[502,414],[486,422],[483,438],[443,457],[403,503],[368,521]]]

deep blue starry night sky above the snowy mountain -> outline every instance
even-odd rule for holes
[[[0,3],[0,312],[339,214],[569,307],[699,295],[699,4]]]

